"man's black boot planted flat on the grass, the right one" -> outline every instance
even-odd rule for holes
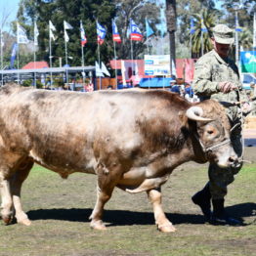
[[[213,214],[211,223],[214,225],[241,225],[242,222],[230,217],[224,209],[224,199],[212,199]]]

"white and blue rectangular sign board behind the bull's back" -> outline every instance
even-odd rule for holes
[[[170,55],[145,55],[146,75],[170,75]]]

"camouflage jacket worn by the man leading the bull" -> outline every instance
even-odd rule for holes
[[[237,86],[236,91],[224,94],[219,90],[220,82],[232,82]],[[193,77],[194,93],[201,99],[215,99],[219,102],[233,103],[248,101],[242,90],[238,68],[231,59],[223,60],[215,50],[202,56],[195,64]],[[228,107],[229,117],[235,121],[238,117],[238,107]]]

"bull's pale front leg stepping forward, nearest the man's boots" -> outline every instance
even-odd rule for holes
[[[160,188],[148,191],[149,200],[152,204],[155,224],[160,232],[170,233],[175,232],[176,229],[172,223],[166,218],[162,209],[162,195]]]

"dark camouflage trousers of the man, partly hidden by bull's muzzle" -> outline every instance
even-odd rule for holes
[[[241,134],[235,133],[231,136],[231,142],[235,153],[242,154]],[[235,174],[239,172],[242,165],[238,168],[220,168],[217,164],[210,164],[208,168],[209,189],[213,199],[223,199],[228,192],[228,185],[235,181]]]

